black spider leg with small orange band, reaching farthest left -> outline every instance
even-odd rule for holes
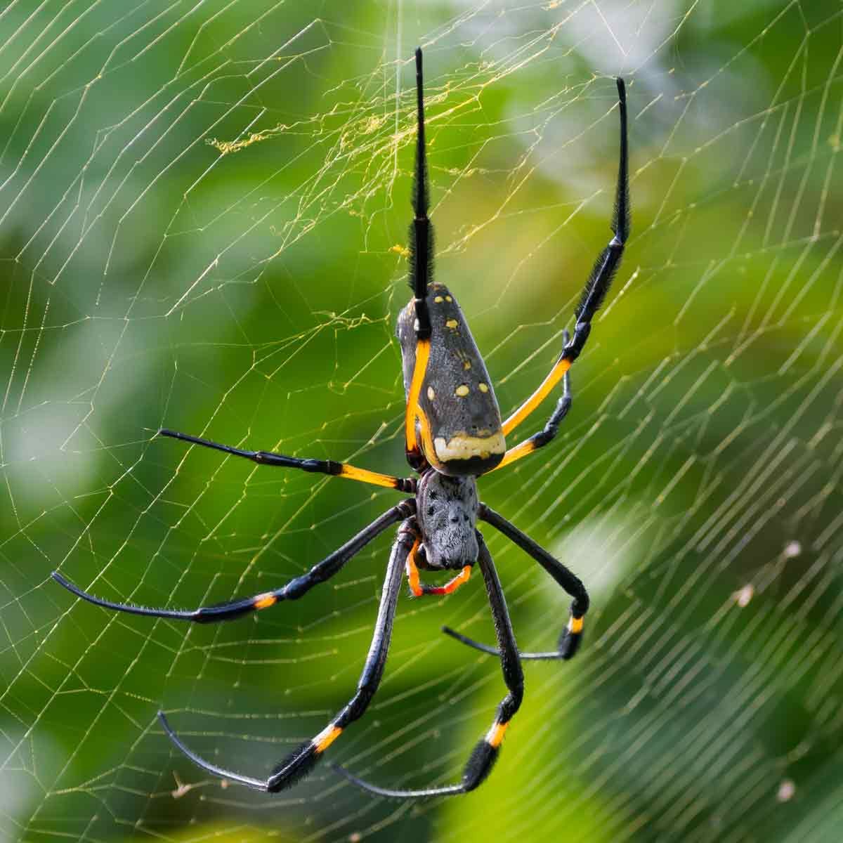
[[[355,556],[365,545],[368,545],[377,535],[384,532],[391,524],[409,518],[416,512],[416,501],[407,498],[395,507],[390,507],[383,515],[376,518],[372,524],[363,528],[353,539],[346,541],[338,550],[330,556],[314,565],[309,572],[300,577],[294,577],[286,585],[276,588],[273,591],[266,591],[255,594],[254,597],[247,597],[240,600],[231,600],[228,603],[217,606],[201,606],[199,609],[148,609],[146,606],[136,606],[127,603],[114,603],[111,600],[104,600],[94,597],[93,594],[84,592],[81,588],[62,577],[57,571],[52,572],[56,583],[67,588],[69,592],[76,594],[83,600],[102,606],[104,609],[115,609],[119,612],[127,612],[130,615],[148,615],[153,618],[169,618],[171,620],[191,620],[198,624],[216,623],[219,620],[231,620],[240,615],[246,615],[256,609],[268,609],[270,606],[282,600],[298,600],[308,593],[314,585],[324,583],[325,580],[333,577],[340,571],[342,566]]]

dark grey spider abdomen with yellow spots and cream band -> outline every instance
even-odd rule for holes
[[[426,300],[432,333],[418,399],[423,414],[416,426],[420,428],[421,450],[427,462],[443,474],[485,474],[501,462],[507,448],[486,363],[448,287],[430,284]],[[415,321],[416,308],[411,301],[401,311],[395,330],[407,395],[416,366]]]

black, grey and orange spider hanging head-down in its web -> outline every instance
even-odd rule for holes
[[[416,99],[418,132],[416,140],[415,180],[412,205],[415,218],[410,227],[409,282],[413,298],[398,317],[396,335],[401,348],[406,393],[405,453],[418,478],[393,477],[357,468],[332,460],[298,459],[267,451],[248,451],[189,436],[171,430],[159,435],[216,448],[226,454],[250,459],[260,465],[312,471],[346,477],[346,479],[385,486],[411,494],[390,507],[372,524],[362,529],[330,556],[286,585],[255,597],[233,600],[216,606],[203,606],[193,611],[147,609],[132,604],[113,603],[95,597],[70,583],[59,572],[52,576],[64,588],[89,603],[106,609],[117,609],[133,615],[146,615],[195,623],[216,623],[246,615],[256,609],[268,609],[283,600],[297,600],[319,583],[325,583],[341,570],[357,552],[393,524],[399,524],[392,545],[380,597],[378,620],[368,656],[357,683],[357,691],[328,725],[314,738],[302,744],[277,765],[266,779],[244,776],[203,760],[178,738],[163,711],[158,717],[173,743],[203,770],[214,776],[237,781],[265,792],[278,792],[308,776],[325,753],[352,722],[366,711],[384,675],[389,641],[392,635],[395,607],[404,573],[416,597],[425,594],[449,594],[464,584],[472,567],[480,566],[486,585],[497,636],[497,647],[490,647],[443,627],[449,636],[482,652],[497,655],[501,660],[507,695],[497,707],[491,728],[475,745],[464,766],[458,784],[428,787],[423,790],[395,790],[378,787],[336,767],[343,776],[369,792],[384,797],[432,797],[466,793],[478,787],[489,775],[497,760],[503,735],[524,696],[526,659],[568,659],[577,652],[583,637],[583,619],[588,610],[588,593],[580,579],[560,561],[506,518],[499,515],[477,496],[476,478],[502,469],[517,459],[532,454],[556,436],[561,421],[571,407],[571,383],[568,373],[583,351],[591,321],[603,303],[615,274],[630,228],[629,180],[626,140],[626,90],[623,79],[617,79],[620,112],[620,164],[615,191],[612,231],[615,236],[599,255],[577,306],[573,338],[563,335],[560,356],[550,373],[524,404],[506,421],[501,421],[491,379],[480,352],[471,336],[459,305],[443,284],[432,280],[433,229],[427,217],[428,183],[425,148],[424,95],[421,72],[421,49],[416,50]],[[504,437],[513,432],[562,381],[562,395],[545,427],[524,442],[507,450]],[[551,652],[519,652],[513,626],[507,613],[500,580],[491,561],[477,521],[491,524],[532,556],[550,577],[572,597],[567,625],[561,632],[557,648]],[[456,572],[443,586],[421,582],[419,570]]]

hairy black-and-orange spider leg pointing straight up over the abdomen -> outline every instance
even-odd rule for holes
[[[416,49],[416,172],[413,178],[413,221],[410,225],[410,286],[413,291],[413,304],[416,312],[416,364],[413,368],[411,387],[407,395],[405,411],[405,450],[407,462],[420,470],[425,463],[424,456],[416,441],[416,419],[421,426],[421,435],[425,447],[432,454],[430,424],[424,411],[419,407],[421,384],[427,372],[430,359],[430,337],[432,326],[430,312],[427,309],[427,285],[433,272],[433,226],[427,217],[429,205],[429,187],[427,183],[427,153],[424,134],[424,81],[421,68],[421,47]]]

